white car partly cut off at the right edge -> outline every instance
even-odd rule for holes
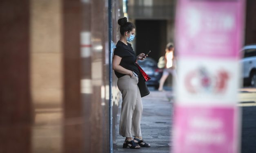
[[[244,85],[256,87],[256,44],[244,46],[241,53]]]

